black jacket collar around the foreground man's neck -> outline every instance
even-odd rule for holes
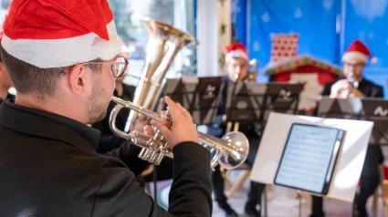
[[[94,150],[100,140],[98,129],[92,129],[74,119],[16,105],[12,99],[0,106],[0,125],[87,150]]]

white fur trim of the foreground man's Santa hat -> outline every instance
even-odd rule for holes
[[[121,51],[121,39],[114,21],[107,25],[110,40],[95,33],[63,39],[11,39],[3,36],[5,51],[29,64],[40,68],[68,67],[101,58],[110,60]]]

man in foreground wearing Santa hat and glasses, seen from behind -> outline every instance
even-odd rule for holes
[[[171,129],[152,121],[173,151],[170,207],[147,195],[121,160],[100,156],[103,119],[128,61],[106,0],[14,0],[0,53],[17,90],[0,106],[0,216],[210,216],[210,154],[193,119],[165,98]],[[121,159],[121,160],[119,160]]]

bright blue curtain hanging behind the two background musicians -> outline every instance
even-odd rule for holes
[[[240,5],[238,9],[236,5]],[[258,59],[261,70],[269,61],[271,34],[298,33],[299,55],[337,65],[351,42],[361,39],[378,58],[376,64],[365,68],[365,77],[386,88],[387,6],[388,0],[232,0],[232,21],[236,22],[237,39]],[[267,77],[260,73],[258,82],[267,82]]]

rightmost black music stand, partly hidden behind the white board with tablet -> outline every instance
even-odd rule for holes
[[[318,117],[373,121],[369,143],[388,145],[388,100],[383,98],[321,98]]]

